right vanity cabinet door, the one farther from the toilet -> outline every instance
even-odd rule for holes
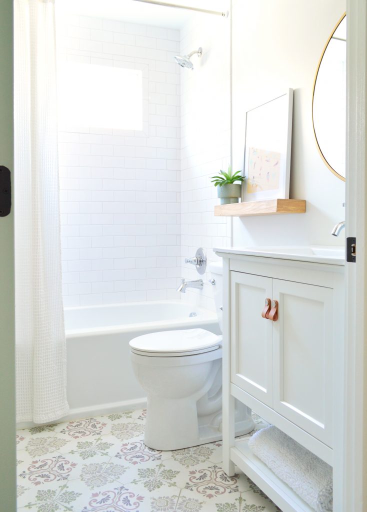
[[[332,446],[333,290],[273,280],[273,409]]]

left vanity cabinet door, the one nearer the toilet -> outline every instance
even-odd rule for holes
[[[231,381],[272,407],[272,322],[262,318],[272,280],[231,272]]]

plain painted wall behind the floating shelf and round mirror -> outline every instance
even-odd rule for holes
[[[233,245],[342,245],[344,183],[322,162],[312,127],[317,63],[345,0],[233,0],[233,167],[243,168],[246,111],[294,89],[290,197],[307,213],[233,220]]]

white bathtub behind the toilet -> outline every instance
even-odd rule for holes
[[[132,338],[196,327],[220,334],[215,312],[181,301],[66,308],[65,326],[70,406],[66,419],[145,406],[130,361]]]

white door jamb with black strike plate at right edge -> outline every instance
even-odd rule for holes
[[[346,264],[346,378],[343,510],[367,507],[367,357],[364,350],[366,240],[366,32],[365,0],[347,0],[347,236],[357,238],[357,261]]]

